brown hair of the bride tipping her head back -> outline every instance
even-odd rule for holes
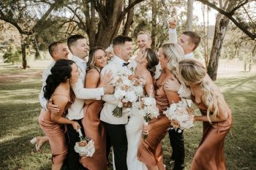
[[[154,77],[154,74],[156,72],[156,66],[159,63],[157,53],[151,48],[146,48],[144,54],[146,54],[146,59],[148,61],[147,69],[150,72],[151,76]]]

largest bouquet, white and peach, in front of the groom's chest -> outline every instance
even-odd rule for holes
[[[118,99],[118,106],[113,110],[113,116],[121,117],[123,104],[132,104],[143,95],[143,85],[146,81],[143,78],[125,73],[119,73],[113,80],[115,87],[114,96]]]

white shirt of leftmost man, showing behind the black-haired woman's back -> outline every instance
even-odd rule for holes
[[[46,85],[46,79],[48,77],[48,75],[51,74],[50,72],[50,69],[54,66],[54,64],[56,63],[56,61],[52,61],[50,63],[50,65],[47,67],[47,69],[45,69],[44,72],[42,72],[42,88],[41,88],[41,91],[39,93],[39,101],[40,101],[40,104],[41,104],[41,107],[45,110],[48,110],[47,107],[46,107],[46,104],[47,104],[47,100],[46,98],[44,97],[44,91],[43,91],[43,88],[45,87]]]

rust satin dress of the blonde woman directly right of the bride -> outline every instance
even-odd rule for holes
[[[138,160],[142,161],[149,168],[157,166],[158,169],[165,169],[162,155],[162,139],[170,128],[170,120],[162,114],[170,106],[163,85],[155,85],[156,101],[159,109],[159,116],[150,120],[151,131],[146,140],[141,139],[138,147]],[[177,94],[178,95],[178,94]],[[157,124],[157,125],[156,125]]]

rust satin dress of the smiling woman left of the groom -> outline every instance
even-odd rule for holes
[[[87,73],[90,74],[90,71]],[[94,100],[91,104],[85,105],[82,120],[86,137],[94,140],[95,152],[92,157],[81,157],[80,163],[91,170],[107,170],[106,158],[106,135],[104,125],[99,120],[103,101]]]

